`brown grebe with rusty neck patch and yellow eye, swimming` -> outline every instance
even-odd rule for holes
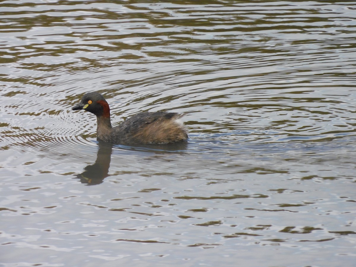
[[[172,112],[141,112],[112,127],[110,108],[98,92],[86,93],[80,104],[72,110],[84,109],[96,115],[98,140],[108,143],[147,144],[174,143],[186,141],[187,132],[177,119],[180,115]]]

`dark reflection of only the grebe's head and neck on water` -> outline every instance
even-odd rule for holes
[[[102,142],[99,142],[98,145],[99,150],[95,163],[88,165],[84,168],[84,172],[76,175],[82,184],[101,184],[103,180],[109,176],[112,145]]]

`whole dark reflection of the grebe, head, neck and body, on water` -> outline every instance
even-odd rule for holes
[[[96,161],[93,165],[88,165],[84,168],[84,172],[76,174],[75,179],[79,179],[82,184],[96,185],[103,183],[104,179],[109,176],[109,167],[111,161],[112,147],[110,143],[99,142],[99,150],[96,156]],[[157,154],[183,154],[187,149],[187,142],[177,142],[170,144],[146,144],[141,146],[126,147],[130,151],[151,152]]]

